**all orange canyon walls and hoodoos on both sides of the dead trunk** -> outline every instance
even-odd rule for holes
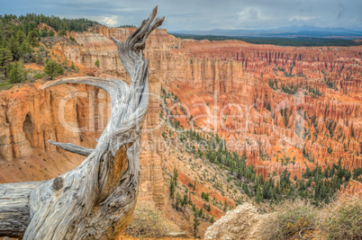
[[[100,26],[95,32],[74,33],[77,44],[59,44],[52,50],[76,66],[87,67],[87,75],[127,79],[109,37],[125,40],[134,30]],[[156,30],[149,36],[145,55],[149,68],[154,69],[149,84],[150,92],[155,93],[150,96],[145,129],[159,125],[162,85],[185,103],[194,119],[206,115],[195,120],[199,128],[236,141],[234,150],[240,156],[245,154],[248,164],[255,165],[265,178],[285,168],[299,178],[306,167],[315,164],[324,167],[340,162],[351,170],[362,167],[361,47],[294,48],[239,40],[179,40],[166,30]],[[38,180],[74,168],[83,158],[69,156],[46,140],[94,147],[109,116],[108,96],[95,88],[67,85],[40,91],[38,87],[16,86],[0,95],[0,161],[11,167],[2,182],[16,181],[12,171]],[[83,129],[73,132],[59,122],[57,112],[61,99],[78,93],[81,96],[70,98],[65,105],[68,129]],[[162,208],[166,190],[159,134],[158,129],[142,133],[143,144],[151,147],[141,153],[140,198],[154,200]],[[36,158],[45,161],[41,159],[35,166],[32,161]],[[49,171],[57,159],[62,166]],[[31,165],[38,167],[42,176],[32,176],[32,169],[24,171]]]

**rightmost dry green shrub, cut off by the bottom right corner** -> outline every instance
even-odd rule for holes
[[[321,210],[321,230],[328,239],[362,239],[362,200],[341,196]]]

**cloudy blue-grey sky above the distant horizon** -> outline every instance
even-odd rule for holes
[[[168,31],[291,25],[362,31],[362,0],[0,0],[0,14],[84,17],[115,27],[139,25],[157,4]]]

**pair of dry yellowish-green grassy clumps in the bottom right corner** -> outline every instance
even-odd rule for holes
[[[285,200],[274,208],[266,229],[268,239],[299,239],[311,231],[322,239],[362,239],[362,200],[343,195],[321,208],[307,200]]]

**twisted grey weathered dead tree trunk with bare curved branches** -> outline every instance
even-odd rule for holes
[[[140,180],[140,129],[149,105],[142,49],[160,26],[157,7],[125,42],[114,38],[131,84],[77,77],[46,84],[90,84],[110,94],[112,113],[95,149],[50,141],[87,156],[76,169],[45,182],[0,185],[0,236],[23,239],[113,239],[130,223]]]

